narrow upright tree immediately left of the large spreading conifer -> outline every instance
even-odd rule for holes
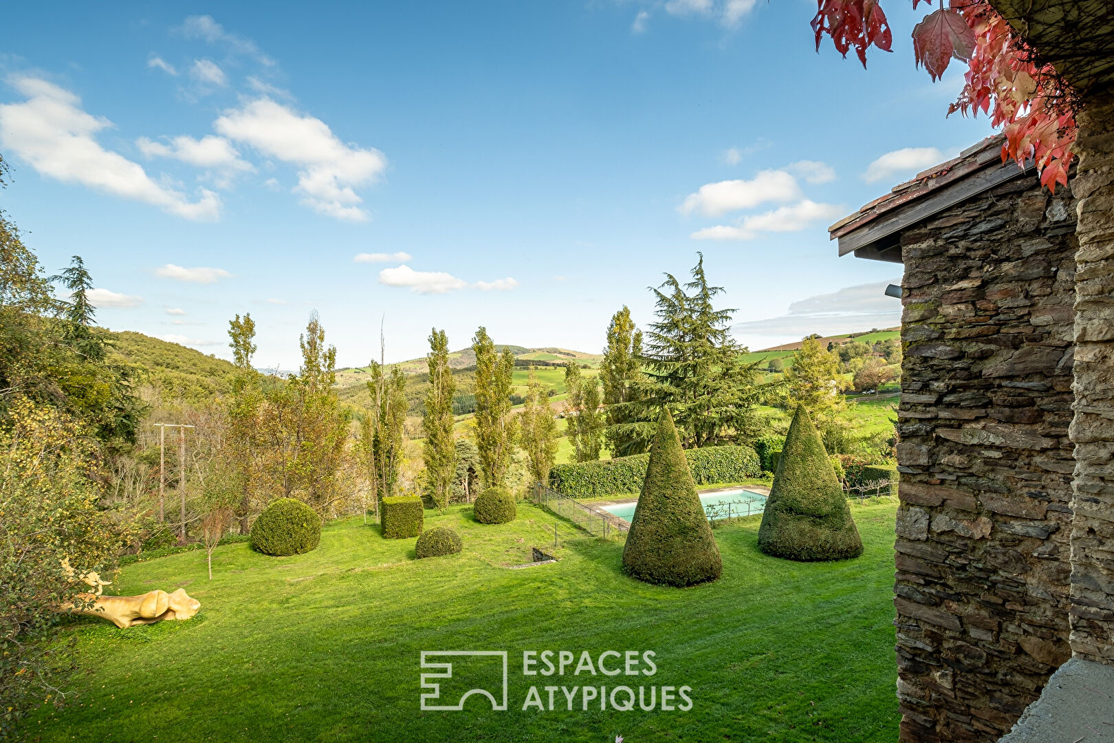
[[[616,457],[635,453],[633,450],[638,447],[637,438],[624,436],[623,429],[617,427],[637,419],[637,410],[633,403],[641,399],[641,355],[642,331],[635,327],[631,310],[624,305],[612,316],[607,326],[607,348],[599,364],[604,404],[607,405],[605,440],[607,448]]]

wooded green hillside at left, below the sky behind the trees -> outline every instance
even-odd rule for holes
[[[108,334],[109,359],[131,366],[138,381],[149,384],[167,402],[204,402],[232,389],[236,368],[231,362],[143,333]]]

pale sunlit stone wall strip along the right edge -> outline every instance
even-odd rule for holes
[[[1079,117],[1072,649],[1114,664],[1114,96]]]

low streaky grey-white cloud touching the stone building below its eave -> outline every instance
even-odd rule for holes
[[[776,345],[810,333],[834,335],[893,327],[901,324],[901,301],[886,296],[886,286],[897,283],[900,280],[895,278],[810,296],[790,304],[784,315],[736,323],[731,330],[737,336],[761,336],[773,341],[768,345]]]

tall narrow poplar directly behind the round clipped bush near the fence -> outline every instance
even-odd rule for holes
[[[510,466],[515,420],[510,417],[511,375],[515,354],[498,353],[486,327],[472,338],[476,354],[476,447],[480,456],[480,479],[487,488],[502,485]]]

